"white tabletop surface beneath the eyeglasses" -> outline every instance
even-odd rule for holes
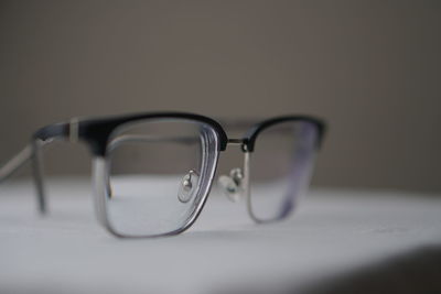
[[[441,248],[437,195],[316,189],[290,219],[255,225],[214,190],[183,235],[122,240],[97,225],[88,181],[49,188],[40,217],[31,183],[0,187],[0,293],[312,293]]]

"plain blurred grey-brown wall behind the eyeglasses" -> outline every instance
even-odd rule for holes
[[[439,1],[1,1],[0,162],[74,116],[323,117],[314,184],[440,192]],[[86,173],[58,145],[52,173]]]

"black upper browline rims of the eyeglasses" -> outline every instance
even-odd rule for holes
[[[217,133],[219,138],[219,150],[224,151],[227,146],[228,137],[224,128],[220,126],[220,123],[211,118],[187,112],[148,112],[148,113],[138,113],[138,115],[129,115],[121,117],[79,120],[77,122],[78,123],[77,135],[78,139],[84,140],[89,144],[94,155],[105,156],[107,142],[109,140],[111,132],[116,128],[131,121],[143,120],[143,119],[159,119],[159,118],[189,119],[206,123],[211,126]],[[321,146],[325,132],[325,123],[321,119],[310,116],[282,116],[265,120],[251,127],[245,134],[245,137],[241,139],[244,151],[252,152],[256,139],[261,131],[273,124],[286,121],[306,121],[313,123],[318,128],[318,135],[319,135],[318,148]],[[37,130],[34,133],[33,139],[40,139],[42,141],[46,141],[56,138],[61,139],[68,138],[71,137],[71,128],[72,128],[71,122],[50,124]]]

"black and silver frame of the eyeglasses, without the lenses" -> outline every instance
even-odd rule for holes
[[[158,235],[149,236],[129,236],[122,235],[116,231],[108,219],[106,209],[106,198],[108,197],[108,167],[107,167],[107,146],[111,133],[120,126],[128,122],[136,122],[140,120],[149,119],[183,119],[194,122],[201,122],[207,124],[216,134],[216,151],[214,166],[212,166],[212,172],[208,175],[208,186],[206,190],[203,192],[202,199],[197,204],[196,210],[192,213],[192,216],[185,221],[180,228]],[[154,238],[163,236],[174,236],[187,230],[197,219],[203,207],[205,206],[206,199],[209,195],[215,172],[217,170],[218,155],[227,149],[227,145],[239,145],[244,152],[244,177],[241,183],[243,195],[246,197],[247,210],[250,218],[257,222],[268,222],[262,221],[255,216],[251,209],[251,197],[249,188],[249,162],[250,154],[254,152],[256,140],[260,132],[265,129],[289,121],[303,121],[314,124],[316,128],[316,141],[315,149],[320,149],[323,142],[324,133],[326,130],[326,124],[323,120],[312,117],[312,116],[280,116],[271,119],[263,120],[259,123],[254,124],[241,139],[228,138],[224,128],[219,122],[214,119],[195,115],[189,112],[147,112],[128,115],[120,117],[109,117],[109,118],[97,118],[97,119],[78,119],[73,118],[67,122],[49,124],[39,129],[31,139],[31,143],[25,146],[20,153],[12,157],[7,164],[0,167],[0,183],[13,175],[25,162],[32,161],[32,174],[35,184],[35,190],[37,196],[37,208],[39,213],[45,215],[47,213],[45,187],[43,181],[42,171],[42,159],[41,149],[47,143],[54,140],[68,140],[69,142],[85,142],[94,156],[93,160],[93,178],[95,185],[94,200],[95,209],[98,221],[104,226],[111,235],[119,238]],[[212,154],[213,155],[213,154]]]

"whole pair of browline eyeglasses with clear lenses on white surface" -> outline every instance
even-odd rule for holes
[[[219,122],[182,112],[72,119],[37,130],[0,168],[0,182],[33,165],[39,210],[46,211],[41,149],[54,140],[83,141],[94,155],[95,207],[117,237],[159,237],[190,228],[209,194],[219,152],[240,146],[243,168],[218,178],[232,199],[246,198],[256,222],[283,219],[309,185],[325,126],[308,116],[265,120],[240,139]]]

